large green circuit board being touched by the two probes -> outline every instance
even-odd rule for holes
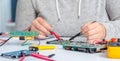
[[[63,45],[63,48],[66,50],[81,51],[86,53],[97,53],[107,49],[107,46],[104,43],[89,44],[87,42],[82,42],[82,41],[54,40],[54,41],[48,41],[47,44]]]

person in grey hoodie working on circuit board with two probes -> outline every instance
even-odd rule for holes
[[[82,32],[89,43],[120,37],[120,0],[18,0],[16,29],[45,38]],[[96,21],[92,23],[93,21]]]

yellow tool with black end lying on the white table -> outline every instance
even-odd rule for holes
[[[53,50],[55,46],[53,45],[39,45],[39,46],[30,46],[30,51],[38,51],[38,50]]]

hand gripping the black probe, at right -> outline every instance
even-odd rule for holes
[[[106,36],[104,25],[99,22],[88,22],[82,28],[81,32],[86,36],[89,43],[94,44],[101,42]]]

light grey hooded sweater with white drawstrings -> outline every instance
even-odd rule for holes
[[[106,38],[120,37],[120,0],[18,0],[16,29],[30,26],[44,17],[61,36],[72,36],[88,21],[101,22]]]

